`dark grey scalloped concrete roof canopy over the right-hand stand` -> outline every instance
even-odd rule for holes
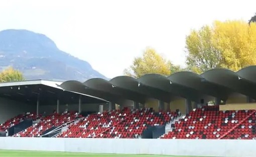
[[[130,99],[143,103],[146,98],[169,102],[175,97],[199,101],[202,95],[225,100],[232,92],[256,99],[256,66],[249,66],[238,72],[212,69],[201,75],[183,71],[169,77],[147,74],[139,79],[129,76],[117,76],[109,81],[94,78],[84,83],[66,81],[60,86],[113,102]]]

